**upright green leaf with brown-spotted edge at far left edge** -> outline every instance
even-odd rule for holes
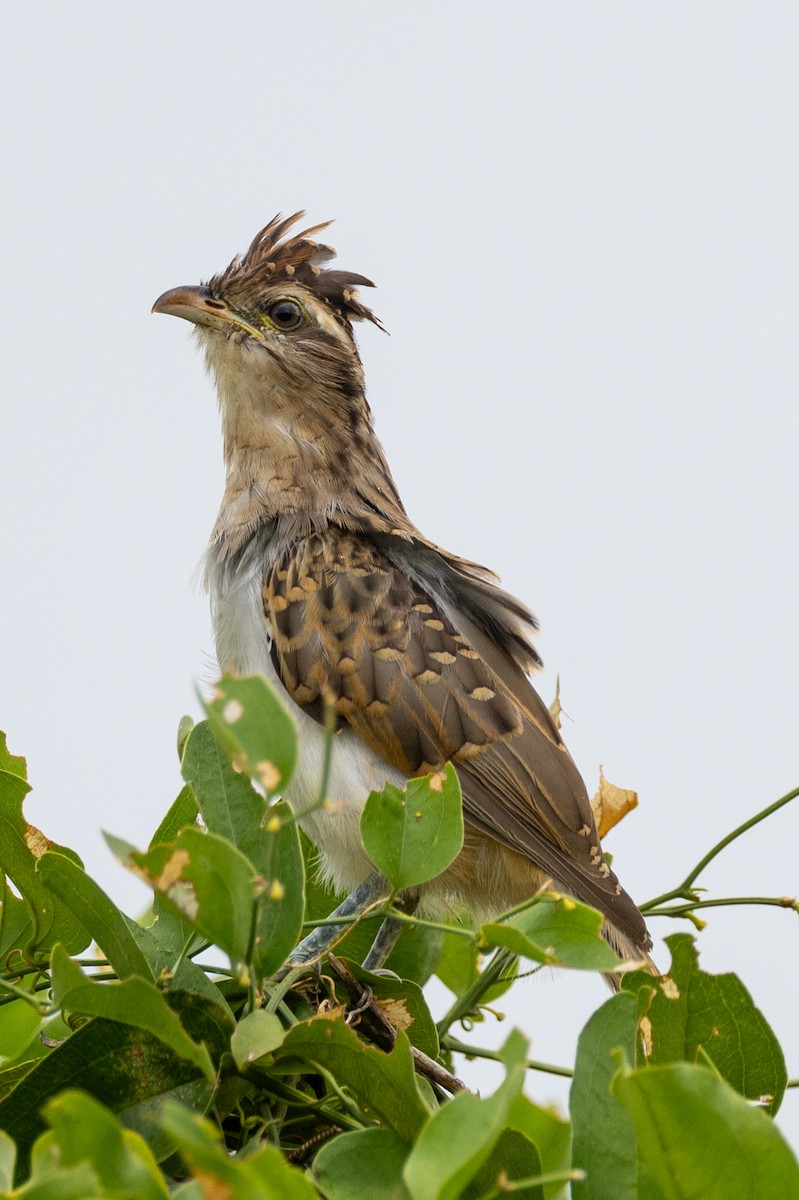
[[[56,850],[79,865],[83,864],[73,851],[55,846],[38,829],[28,824],[22,806],[29,791],[30,786],[16,770],[0,769],[0,864],[30,905],[35,923],[31,941],[25,949],[26,953],[35,950],[42,955],[55,942],[62,942],[70,953],[79,954],[91,938],[73,914],[55,902],[54,895],[36,874],[36,859],[46,850]],[[14,916],[14,923],[17,930],[24,925],[24,914],[19,911]]]

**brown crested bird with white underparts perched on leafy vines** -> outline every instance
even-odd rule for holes
[[[492,571],[410,521],[354,336],[356,322],[380,325],[359,290],[374,284],[329,266],[335,251],[317,235],[331,222],[298,232],[304,217],[277,215],[208,283],[152,306],[194,326],[216,380],[226,482],[205,582],[220,666],[266,677],[296,719],[286,799],[322,876],[350,896],[337,912],[385,886],[360,839],[370,793],[452,763],[463,847],[408,907],[455,904],[483,919],[549,887],[599,910],[624,960],[649,964],[644,919],[530,682],[537,623]],[[367,965],[385,958],[389,932]],[[299,961],[323,944],[312,938]]]

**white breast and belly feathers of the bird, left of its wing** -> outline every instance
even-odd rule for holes
[[[296,812],[304,812],[319,800],[325,734],[322,726],[289,698],[272,665],[271,637],[262,600],[263,566],[259,564],[230,580],[209,560],[206,578],[220,667],[238,674],[265,676],[296,721],[299,757],[286,799]],[[353,730],[340,730],[334,739],[324,808],[313,808],[300,817],[301,828],[320,851],[323,875],[337,890],[352,890],[372,871],[361,847],[359,820],[370,792],[386,782],[402,786],[405,776],[385,763]]]

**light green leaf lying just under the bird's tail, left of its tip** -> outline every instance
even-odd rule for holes
[[[619,965],[600,935],[602,917],[571,896],[542,893],[529,908],[507,920],[480,926],[488,947],[504,947],[534,962],[583,971],[612,971]]]

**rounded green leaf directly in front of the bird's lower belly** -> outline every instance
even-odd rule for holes
[[[463,845],[461,785],[455,767],[386,784],[372,792],[361,815],[364,848],[391,886],[426,883],[445,870]]]

